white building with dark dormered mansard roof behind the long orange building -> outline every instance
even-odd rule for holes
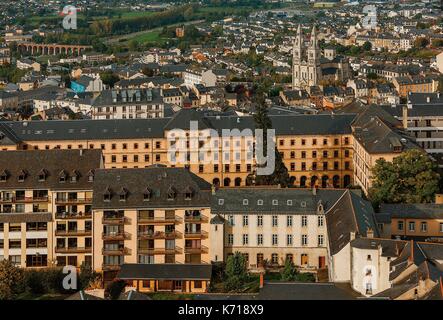
[[[91,105],[93,119],[139,119],[164,116],[159,89],[104,90]]]

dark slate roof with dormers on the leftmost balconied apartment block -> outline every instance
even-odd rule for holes
[[[102,166],[101,150],[29,150],[0,152],[0,174],[6,174],[2,189],[91,189],[88,175]],[[46,178],[39,181],[44,170]],[[60,182],[64,172],[66,181]],[[23,182],[19,176],[25,174]],[[70,177],[77,175],[77,181]]]

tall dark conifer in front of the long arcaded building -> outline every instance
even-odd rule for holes
[[[268,130],[272,129],[272,122],[268,115],[268,108],[265,103],[264,95],[262,92],[257,93],[257,100],[255,103],[255,114],[254,122],[257,129],[263,129],[263,155],[267,157],[267,136]],[[277,147],[275,151],[275,166],[274,171],[270,175],[257,175],[253,172],[248,175],[247,184],[248,185],[280,185],[283,188],[288,187],[290,182],[290,177],[288,169],[283,163],[283,157],[278,151]],[[265,167],[266,164],[257,165],[259,167]]]

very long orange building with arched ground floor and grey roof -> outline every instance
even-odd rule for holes
[[[351,123],[355,114],[270,118],[276,146],[294,185],[337,188],[353,184]],[[198,148],[193,150],[189,139],[191,121],[201,135]],[[237,133],[231,131],[223,137],[224,129],[237,129]],[[0,148],[101,149],[105,168],[186,166],[214,185],[245,186],[247,176],[255,170],[254,130],[250,116],[208,116],[183,109],[171,118],[3,122]],[[175,133],[183,133],[187,139],[181,151],[189,153],[189,157],[183,161],[174,158],[179,139],[173,136]]]

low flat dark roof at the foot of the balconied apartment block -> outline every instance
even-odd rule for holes
[[[123,264],[117,275],[122,280],[210,280],[210,264]]]

